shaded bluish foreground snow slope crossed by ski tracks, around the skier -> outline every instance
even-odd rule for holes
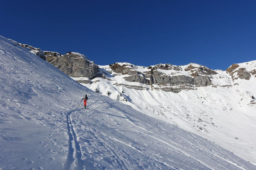
[[[3,37],[0,92],[2,170],[256,169],[205,138],[87,89]]]

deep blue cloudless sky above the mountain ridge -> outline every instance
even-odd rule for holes
[[[2,1],[0,35],[98,65],[256,60],[255,0]]]

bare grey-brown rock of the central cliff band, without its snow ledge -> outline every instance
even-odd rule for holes
[[[211,80],[208,76],[212,74],[217,74],[214,70],[211,70],[205,66],[194,67],[192,64],[186,68],[187,72],[190,72],[191,76],[188,75],[166,75],[160,70],[175,70],[177,72],[182,71],[182,68],[179,66],[174,66],[171,64],[158,64],[155,66],[148,67],[148,71],[138,72],[135,70],[135,66],[129,65],[126,67],[126,64],[122,66],[118,63],[111,65],[111,70],[114,72],[113,75],[130,75],[128,77],[123,77],[126,81],[138,82],[148,85],[153,84],[168,84],[172,86],[187,85],[190,87],[194,86],[208,86],[211,85]],[[159,70],[160,69],[160,70]],[[164,87],[165,91],[174,91],[173,88]],[[189,88],[191,89],[191,87]],[[176,92],[179,90],[175,90]]]

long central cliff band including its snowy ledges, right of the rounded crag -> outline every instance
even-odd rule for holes
[[[148,68],[134,66],[129,63],[114,63],[110,64],[110,73],[113,76],[122,75],[123,79],[129,82],[151,85],[151,89],[171,92],[209,86],[212,84],[211,76],[217,74],[214,70],[194,63],[186,67],[157,64]]]

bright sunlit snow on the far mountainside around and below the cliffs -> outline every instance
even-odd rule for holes
[[[118,64],[125,64],[126,67],[140,72],[147,70],[146,67],[130,63]],[[188,75],[185,71],[188,65],[179,66],[181,71],[159,71],[167,75]],[[192,65],[199,67],[198,64]],[[235,79],[233,82],[225,71],[214,70],[218,74],[211,75],[211,86],[173,93],[155,90],[150,85],[128,82],[123,79],[126,75],[112,76],[116,73],[110,74],[112,70],[109,66],[99,67],[108,80],[95,78],[92,84],[83,84],[84,86],[91,90],[97,89],[101,94],[119,100],[142,113],[207,138],[256,165],[256,100],[252,99],[252,96],[256,96],[255,76],[249,80]],[[253,72],[256,69],[256,61],[241,63],[237,70],[239,68]],[[132,86],[143,88],[138,90]]]

